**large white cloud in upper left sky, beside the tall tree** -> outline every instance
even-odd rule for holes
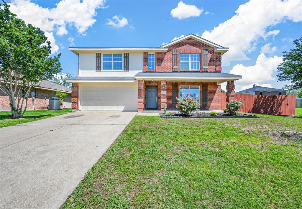
[[[54,28],[57,35],[68,33],[66,24],[74,26],[79,34],[83,34],[89,27],[95,23],[93,18],[97,13],[96,9],[105,8],[105,0],[88,1],[62,0],[54,8],[43,8],[36,3],[25,1],[13,1],[8,3],[10,11],[17,14],[25,23],[31,23],[45,32],[48,40],[51,42],[51,53],[59,50],[56,40],[53,37]]]

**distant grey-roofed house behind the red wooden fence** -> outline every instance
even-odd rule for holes
[[[253,85],[253,88],[248,88],[236,94],[255,94],[255,95],[286,95],[286,91],[278,88],[268,88],[263,86]]]

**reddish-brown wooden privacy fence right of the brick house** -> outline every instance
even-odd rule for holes
[[[225,108],[225,97],[221,93],[221,107]],[[243,101],[240,112],[261,113],[268,115],[294,115],[296,107],[295,95],[251,95],[235,94],[235,99],[240,98]],[[224,100],[223,100],[224,99]],[[223,106],[224,104],[224,106]]]

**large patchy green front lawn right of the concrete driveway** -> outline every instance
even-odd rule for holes
[[[297,111],[297,116],[301,111]],[[301,208],[302,117],[136,116],[62,208]]]

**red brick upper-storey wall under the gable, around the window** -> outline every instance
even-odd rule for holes
[[[202,49],[208,49],[208,71],[221,71],[221,54],[214,52],[214,47],[201,43],[192,38],[188,38],[179,43],[168,47],[167,52],[155,52],[155,71],[157,72],[170,72],[172,71],[172,50],[178,50],[178,71],[180,71],[180,54],[181,53],[200,53],[200,70],[202,71]],[[144,52],[143,71],[148,71],[148,53]],[[192,70],[190,70],[191,72]],[[181,71],[185,72],[185,71]]]

